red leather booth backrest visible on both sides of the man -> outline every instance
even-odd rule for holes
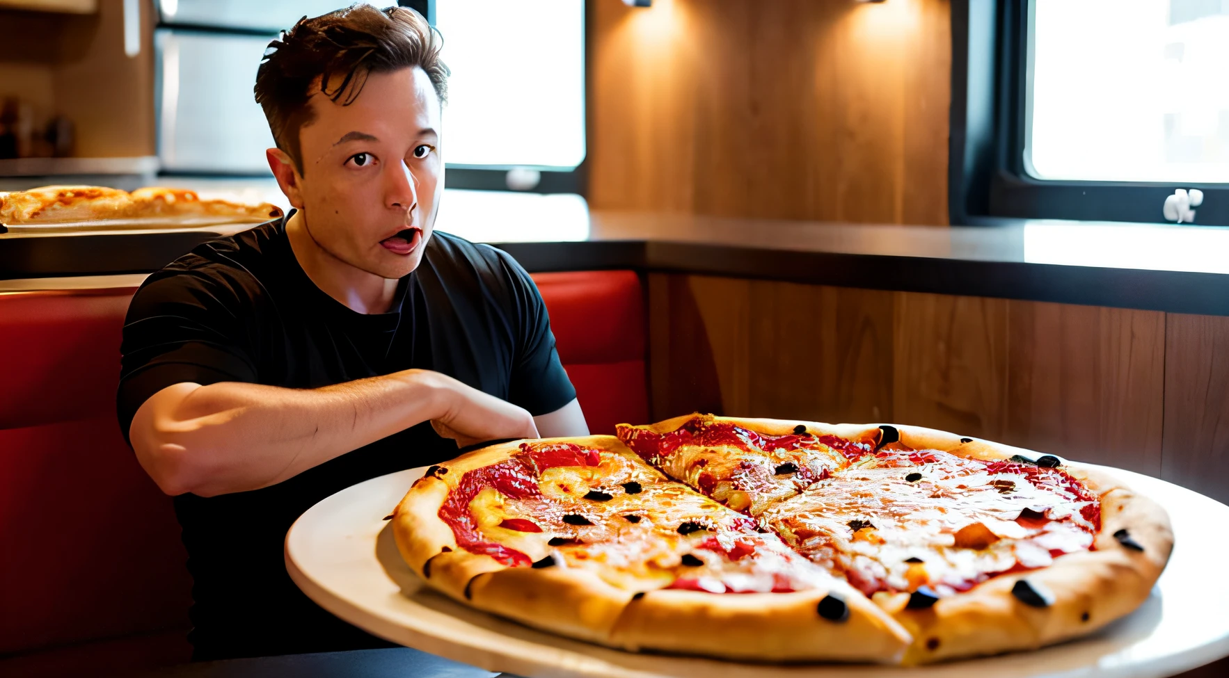
[[[637,275],[533,278],[590,430],[644,421]],[[179,527],[114,415],[133,292],[0,294],[0,674],[96,674],[188,657]]]

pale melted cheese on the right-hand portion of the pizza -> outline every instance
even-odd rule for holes
[[[1094,527],[1080,515],[1086,501],[1020,474],[988,473],[976,459],[932,457],[922,466],[905,466],[900,456],[857,464],[761,522],[868,594],[922,585],[940,594],[964,591],[1018,563],[1042,567],[1091,547]],[[907,481],[914,472],[922,479]],[[1018,522],[1024,508],[1050,520]]]

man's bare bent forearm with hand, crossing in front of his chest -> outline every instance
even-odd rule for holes
[[[316,389],[177,383],[141,404],[129,435],[162,491],[214,496],[280,483],[428,420],[462,445],[537,437],[526,410],[425,370]]]

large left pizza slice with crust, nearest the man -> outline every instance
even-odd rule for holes
[[[429,586],[614,647],[895,662],[909,641],[843,580],[613,436],[504,443],[431,467],[393,531]]]

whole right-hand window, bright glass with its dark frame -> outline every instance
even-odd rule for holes
[[[957,0],[952,69],[952,224],[1229,225],[1229,0]]]

